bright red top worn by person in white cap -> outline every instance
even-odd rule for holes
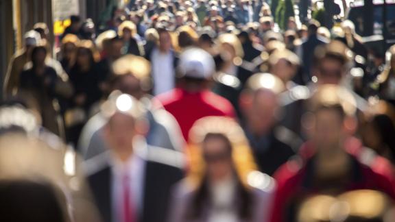
[[[204,90],[199,93],[189,93],[176,88],[169,93],[158,96],[165,110],[173,114],[181,127],[182,135],[188,141],[189,130],[195,121],[205,116],[228,116],[235,118],[232,104],[224,97],[220,97]]]

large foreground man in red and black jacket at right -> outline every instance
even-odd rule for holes
[[[270,222],[294,221],[300,203],[309,195],[338,195],[348,190],[380,190],[395,198],[387,177],[375,173],[347,151],[348,121],[355,114],[355,99],[335,85],[318,88],[310,100],[309,144],[314,153],[302,167],[287,163],[277,176],[278,188]],[[299,165],[300,166],[300,165]],[[287,173],[284,173],[287,172]]]

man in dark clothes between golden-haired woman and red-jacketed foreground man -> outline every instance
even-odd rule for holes
[[[241,93],[239,106],[241,123],[252,147],[259,170],[268,175],[295,155],[302,140],[278,124],[278,95],[285,85],[269,73],[252,75]]]

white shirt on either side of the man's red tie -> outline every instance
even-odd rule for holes
[[[123,221],[123,178],[128,172],[130,185],[130,203],[134,207],[134,214],[139,215],[143,208],[145,161],[138,155],[133,155],[127,162],[112,158],[112,221]]]

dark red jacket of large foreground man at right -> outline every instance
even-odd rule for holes
[[[361,161],[357,160],[359,158],[356,157],[361,153],[362,147],[358,145],[355,138],[350,138],[346,142],[346,150],[351,154],[354,164],[352,168],[352,182],[348,184],[344,191],[359,189],[380,190],[395,199],[395,190],[392,183],[393,174],[389,173],[390,165],[387,165],[383,158],[374,158],[372,160],[372,169],[362,164]],[[309,178],[311,178],[311,171],[313,171],[314,153],[311,143],[306,143],[300,149],[300,160],[306,162],[306,164],[302,166],[298,160],[290,160],[283,164],[275,173],[274,178],[277,181],[277,190],[274,195],[270,222],[287,221],[287,212],[289,212],[291,201],[294,197],[318,193],[318,190],[309,186]]]

